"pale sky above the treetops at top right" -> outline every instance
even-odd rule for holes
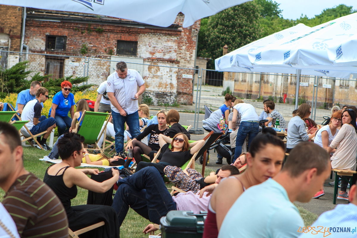
[[[301,14],[312,18],[319,15],[323,9],[331,8],[340,4],[353,6],[357,9],[357,0],[273,0],[280,3],[279,7],[283,10],[282,15],[285,19],[296,20]]]

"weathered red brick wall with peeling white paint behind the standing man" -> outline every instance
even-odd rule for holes
[[[175,24],[182,26],[183,17],[179,14]],[[96,32],[97,27],[103,28],[104,31]],[[144,59],[144,64],[194,68],[196,37],[200,29],[200,21],[195,22],[191,27],[170,30],[27,19],[25,29],[24,41],[29,46],[30,52],[82,56],[80,50],[82,45],[86,44],[88,47],[86,56],[91,58],[89,83],[99,85],[110,74],[110,62],[100,59],[110,59],[111,50],[116,53],[117,40],[137,41],[137,57]],[[88,29],[92,32],[89,33]],[[66,36],[66,50],[46,51],[46,35]],[[45,70],[39,60],[30,61],[33,64],[31,69]],[[83,67],[71,66],[70,61],[71,59],[65,59],[65,76],[72,74],[82,76]],[[193,70],[144,66],[146,93],[156,103],[177,101],[192,105],[192,79],[182,78],[182,74],[193,75]]]

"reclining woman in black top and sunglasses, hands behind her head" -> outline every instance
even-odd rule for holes
[[[171,148],[169,148],[169,143],[171,144]],[[139,171],[147,166],[154,166],[157,170],[159,170],[162,178],[164,178],[164,169],[166,166],[181,167],[189,159],[191,159],[194,153],[202,148],[205,141],[200,140],[188,143],[188,138],[183,133],[177,133],[173,139],[165,136],[164,134],[159,134],[159,144],[162,153],[160,162],[148,163],[142,161],[137,165],[136,171]]]

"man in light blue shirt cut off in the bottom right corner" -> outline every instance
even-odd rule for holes
[[[353,184],[348,195],[350,204],[338,204],[335,209],[324,212],[306,229],[300,229],[299,238],[308,237],[357,237],[357,186]],[[322,229],[321,229],[322,228]],[[319,234],[320,233],[320,234]]]

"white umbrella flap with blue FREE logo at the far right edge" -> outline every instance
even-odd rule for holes
[[[357,66],[357,34],[327,48],[333,66]]]

